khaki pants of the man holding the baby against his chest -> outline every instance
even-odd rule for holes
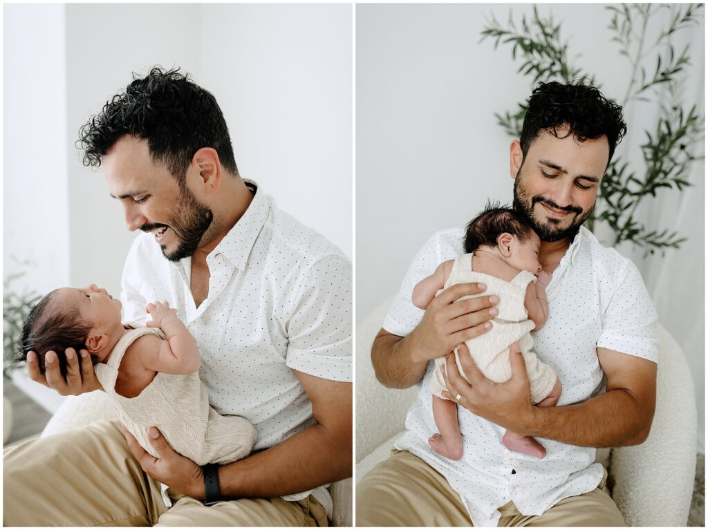
[[[561,500],[542,515],[522,515],[513,502],[499,511],[499,526],[626,526],[604,479],[595,490]],[[396,451],[357,484],[356,526],[472,526],[472,521],[445,477],[409,451]]]

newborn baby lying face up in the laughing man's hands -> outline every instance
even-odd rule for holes
[[[94,284],[56,289],[25,320],[18,358],[37,352],[44,372],[44,355],[51,350],[66,376],[64,350],[87,350],[119,420],[152,456],[159,457],[148,442],[149,427],[199,466],[247,456],[256,430],[245,418],[219,415],[209,405],[197,342],[177,311],[166,302],[148,304],[152,321],[145,327],[122,323],[121,307]]]

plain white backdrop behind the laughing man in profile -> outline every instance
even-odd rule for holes
[[[4,6],[4,275],[33,257],[40,292],[120,292],[135,234],[79,127],[155,64],[212,92],[236,164],[276,203],[352,256],[352,6]],[[31,212],[31,215],[28,214]]]

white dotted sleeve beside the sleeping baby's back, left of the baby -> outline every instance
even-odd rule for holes
[[[440,263],[462,253],[463,234],[464,231],[459,228],[437,232],[418,250],[384,319],[384,330],[405,337],[421,323],[425,311],[413,305],[413,288],[423,278],[433,274]]]

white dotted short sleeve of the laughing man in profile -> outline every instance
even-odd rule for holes
[[[341,255],[321,258],[304,275],[287,323],[287,367],[352,381],[351,311],[351,263]]]

